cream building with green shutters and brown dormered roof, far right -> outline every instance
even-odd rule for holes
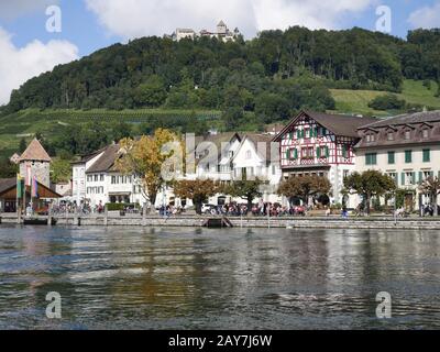
[[[376,169],[388,174],[406,189],[406,208],[433,204],[420,195],[428,177],[440,178],[440,111],[417,112],[370,123],[358,129],[356,170]]]

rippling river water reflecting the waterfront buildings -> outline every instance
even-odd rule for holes
[[[0,227],[0,329],[433,328],[439,231]]]

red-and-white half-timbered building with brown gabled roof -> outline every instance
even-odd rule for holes
[[[283,178],[317,175],[332,185],[330,200],[343,201],[343,179],[355,169],[358,129],[376,119],[301,111],[274,139]],[[349,204],[350,207],[355,205]]]

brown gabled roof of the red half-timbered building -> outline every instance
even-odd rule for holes
[[[320,125],[333,132],[336,135],[350,136],[350,138],[358,138],[359,128],[378,121],[375,118],[359,118],[345,114],[301,111],[286,125],[286,128],[284,128],[282,132],[279,132],[279,134],[274,139],[274,141],[279,141],[280,136],[283,136],[290,129],[292,124],[296,123],[296,121],[300,119],[302,116],[307,116],[314,119]]]

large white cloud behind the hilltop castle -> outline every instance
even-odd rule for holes
[[[267,29],[305,25],[334,29],[343,15],[377,0],[85,0],[110,34],[133,38],[163,35],[176,28],[213,30],[223,19],[246,36]]]

